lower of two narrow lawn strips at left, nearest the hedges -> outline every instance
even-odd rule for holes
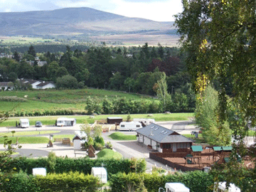
[[[11,143],[16,143],[16,137],[9,137]],[[47,144],[49,139],[47,137],[18,137],[19,144]],[[0,137],[0,144],[4,144],[4,137]]]

